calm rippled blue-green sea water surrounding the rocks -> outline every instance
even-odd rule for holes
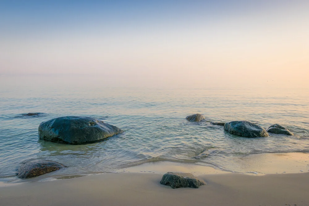
[[[60,85],[60,86],[59,86]],[[33,82],[0,88],[0,179],[16,181],[18,167],[31,159],[66,166],[45,177],[113,172],[144,162],[173,161],[235,170],[239,157],[254,153],[309,152],[309,89],[125,88],[78,83]],[[39,116],[21,116],[43,112]],[[201,113],[205,120],[185,117]],[[91,116],[124,133],[87,145],[38,139],[38,125],[59,116]],[[278,123],[294,136],[245,138],[210,121],[248,120],[264,128]],[[205,149],[208,156],[194,158]],[[239,171],[243,172],[243,171]]]

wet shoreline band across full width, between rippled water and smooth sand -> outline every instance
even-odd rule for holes
[[[71,174],[63,176],[58,175],[57,171],[54,171],[52,173],[43,174],[31,179],[16,178],[12,180],[9,179],[9,181],[3,181],[5,179],[2,179],[2,181],[0,181],[0,187],[7,184],[14,185],[27,182],[53,181],[109,173],[155,173],[163,175],[170,171],[192,173],[194,175],[238,173],[260,176],[265,174],[297,174],[309,172],[309,153],[293,152],[249,154],[246,156],[239,156],[237,161],[240,164],[237,166],[237,170],[235,171],[229,168],[219,168],[216,166],[212,167],[193,163],[169,161],[146,162],[137,166],[102,173]]]

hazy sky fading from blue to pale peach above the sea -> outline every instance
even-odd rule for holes
[[[299,0],[4,0],[0,75],[309,87],[308,11]]]

